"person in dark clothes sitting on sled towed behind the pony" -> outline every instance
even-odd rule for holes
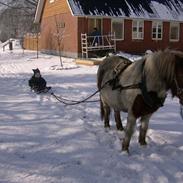
[[[32,69],[34,74],[29,80],[29,86],[31,90],[35,91],[36,93],[46,93],[51,89],[51,87],[46,86],[46,80],[41,76],[40,70]]]

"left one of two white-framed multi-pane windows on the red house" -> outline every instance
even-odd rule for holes
[[[132,22],[132,39],[144,38],[144,21],[133,20]]]

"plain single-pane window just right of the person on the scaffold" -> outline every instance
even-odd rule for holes
[[[124,39],[124,22],[123,22],[123,20],[112,20],[111,30],[112,30],[112,33],[115,33],[117,40]]]

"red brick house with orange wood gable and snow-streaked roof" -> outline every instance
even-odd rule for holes
[[[183,51],[182,7],[183,0],[39,0],[35,23],[41,24],[41,50],[64,56],[101,49]],[[94,27],[101,33],[97,45],[88,37]]]

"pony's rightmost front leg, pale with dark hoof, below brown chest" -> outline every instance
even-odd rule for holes
[[[152,116],[152,114],[141,117],[141,120],[140,120],[141,126],[140,126],[140,133],[139,133],[139,143],[140,143],[140,145],[147,145],[146,133],[147,133],[147,130],[148,130],[149,119],[150,119],[151,116]]]

